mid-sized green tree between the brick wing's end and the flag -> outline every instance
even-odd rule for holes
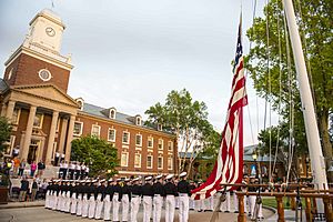
[[[212,131],[205,103],[192,101],[190,92],[185,89],[172,90],[167,97],[165,104],[158,102],[150,107],[145,114],[149,115],[147,125],[162,124],[164,130],[176,135],[180,152],[191,152],[188,168],[190,170]],[[179,155],[179,167],[180,171],[184,170],[185,155],[183,158]]]

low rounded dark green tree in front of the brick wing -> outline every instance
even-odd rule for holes
[[[82,137],[72,141],[71,159],[89,164],[91,176],[117,173],[117,149],[97,137]],[[108,172],[111,171],[110,173]]]

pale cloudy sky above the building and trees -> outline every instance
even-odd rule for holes
[[[258,14],[264,1],[258,1]],[[252,1],[241,0],[1,0],[0,62],[23,42],[29,22],[49,8],[65,23],[61,54],[72,54],[72,98],[141,114],[171,90],[186,89],[208,105],[209,120],[223,129],[242,4],[243,33]],[[249,42],[243,36],[244,54]],[[258,143],[264,101],[248,78],[244,145]],[[276,123],[272,114],[272,124]],[[252,130],[251,130],[252,129]]]

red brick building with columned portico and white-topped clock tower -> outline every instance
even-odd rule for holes
[[[115,108],[100,108],[68,93],[70,56],[60,53],[62,20],[42,10],[29,23],[23,43],[6,61],[0,80],[1,115],[12,124],[6,155],[51,164],[54,153],[70,160],[71,141],[93,134],[113,143],[120,174],[174,172],[176,140],[162,127],[148,128],[140,114],[130,117]]]

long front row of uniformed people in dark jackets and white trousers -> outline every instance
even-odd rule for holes
[[[162,175],[154,178],[147,176],[144,184],[140,178],[125,180],[54,180],[50,181],[47,188],[46,208],[58,210],[78,216],[89,219],[120,221],[119,209],[122,205],[122,221],[137,222],[140,203],[143,204],[143,222],[161,221],[163,198],[165,198],[165,222],[174,220],[174,210],[179,208],[179,221],[189,220],[189,210],[198,209],[201,211],[213,211],[214,196],[206,200],[194,201],[190,199],[191,190],[196,185],[185,180],[186,173],[180,174],[180,181],[173,180],[170,174],[162,180]],[[198,184],[198,186],[200,183]],[[225,212],[230,212],[231,201],[230,192],[226,192],[226,201],[222,204]],[[238,212],[236,195],[234,199],[234,211]],[[254,212],[255,196],[249,198],[250,214]],[[245,200],[245,212],[246,211]],[[130,212],[130,213],[129,213]],[[151,215],[153,214],[153,215]],[[261,214],[261,208],[259,215]],[[261,215],[262,216],[262,215]]]

